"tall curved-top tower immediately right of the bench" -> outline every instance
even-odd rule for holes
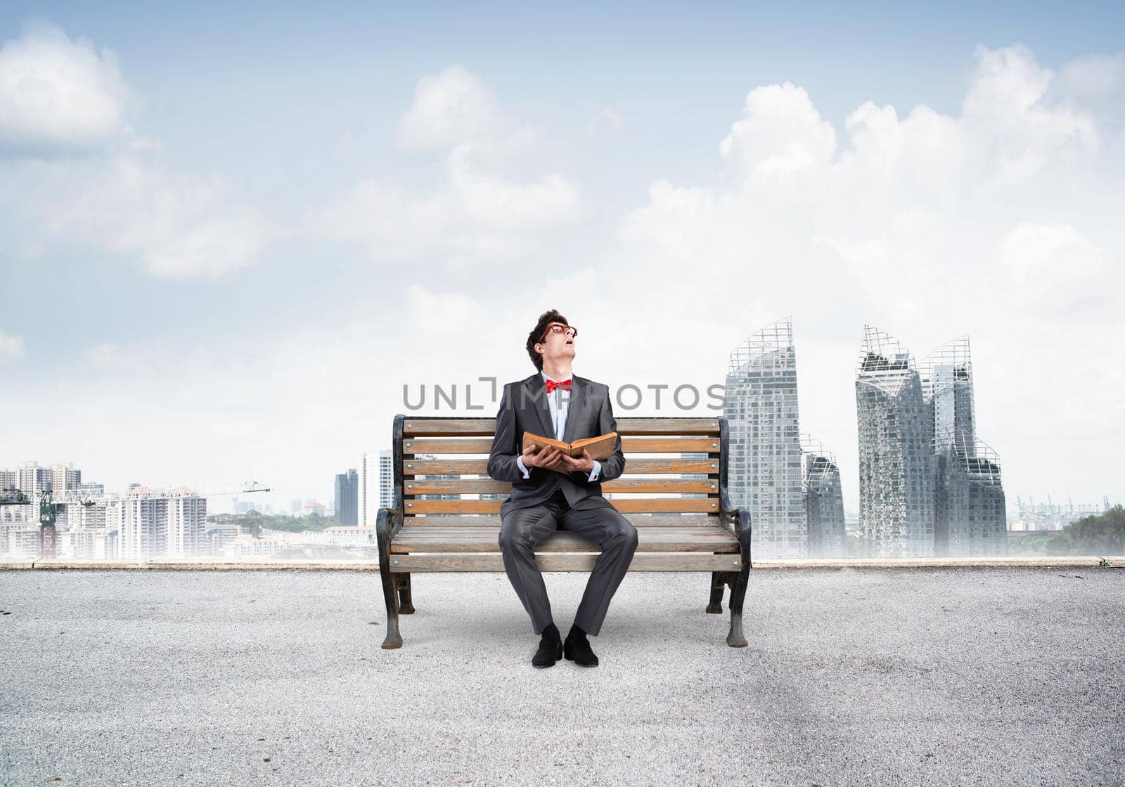
[[[755,554],[808,554],[796,354],[789,319],[767,325],[730,354],[723,414],[729,423],[727,486],[754,523]]]

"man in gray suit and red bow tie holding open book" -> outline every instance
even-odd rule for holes
[[[620,437],[603,462],[592,459],[588,451],[572,459],[557,449],[520,447],[524,431],[568,443],[616,432],[609,387],[572,378],[576,336],[577,331],[558,311],[539,317],[526,343],[538,372],[504,386],[488,456],[488,474],[512,481],[512,494],[500,507],[500,548],[507,578],[531,616],[532,631],[540,635],[531,660],[536,667],[554,667],[564,654],[576,664],[597,666],[587,634],[596,636],[601,630],[610,599],[637,551],[637,528],[602,497],[601,482],[624,472]],[[602,548],[566,642],[551,619],[533,552],[556,528]]]

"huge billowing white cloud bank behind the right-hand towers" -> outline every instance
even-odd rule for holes
[[[1116,76],[1098,79],[1104,92]],[[1125,183],[1099,138],[1104,118],[1055,82],[1025,47],[981,48],[958,115],[864,102],[839,139],[803,89],[756,88],[720,144],[745,177],[657,179],[600,284],[660,315],[660,346],[698,363],[705,315],[723,313],[729,350],[732,331],[793,314],[802,429],[840,456],[853,503],[863,323],[917,354],[971,333],[981,435],[1006,459],[1010,492],[1051,488],[1060,462],[1081,463],[1097,433],[1125,428],[1125,324],[1114,318],[1125,248],[1109,218]],[[1047,413],[1068,437],[1036,445],[1027,425]]]

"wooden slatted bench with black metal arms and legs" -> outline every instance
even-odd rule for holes
[[[745,648],[750,516],[727,495],[726,418],[618,418],[616,425],[626,472],[602,492],[637,527],[630,571],[710,572],[706,612],[722,613],[729,586],[727,644]],[[403,644],[398,616],[414,612],[411,575],[504,570],[500,505],[512,485],[487,476],[495,427],[495,418],[395,416],[394,500],[379,509],[375,533],[387,605],[384,648]],[[536,562],[542,571],[588,571],[597,552],[556,532],[536,546]]]

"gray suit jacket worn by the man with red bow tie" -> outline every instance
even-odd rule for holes
[[[609,386],[576,374],[572,374],[570,379],[573,382],[562,440],[569,443],[616,432],[618,422],[613,418]],[[496,436],[493,437],[488,455],[488,476],[500,481],[512,481],[511,497],[500,507],[502,519],[512,509],[539,505],[559,487],[572,508],[612,507],[602,497],[602,481],[612,481],[624,472],[626,455],[621,451],[620,437],[613,454],[600,460],[602,474],[597,481],[587,481],[590,473],[582,471],[564,476],[547,468],[528,468],[530,474],[524,480],[523,471],[515,463],[522,451],[524,431],[547,437],[555,435],[551,409],[547,404],[547,388],[539,372],[523,380],[505,383],[504,395],[500,400]]]

